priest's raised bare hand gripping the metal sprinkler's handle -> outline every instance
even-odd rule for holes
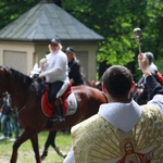
[[[139,63],[140,70],[142,71],[142,73],[146,77],[149,75],[152,75],[149,70],[149,60],[147,59],[147,57],[143,53],[140,53],[138,55],[138,63]]]

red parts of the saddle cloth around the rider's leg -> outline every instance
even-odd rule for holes
[[[62,101],[63,101],[63,115],[65,115],[66,111],[67,111],[67,97],[71,95],[72,89],[71,89],[71,85],[67,87],[66,91],[63,93]],[[46,86],[46,91],[41,97],[41,108],[42,108],[42,112],[46,116],[52,116],[52,103],[49,102],[48,100],[48,85]]]

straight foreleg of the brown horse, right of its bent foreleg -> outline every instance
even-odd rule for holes
[[[36,134],[33,137],[30,137],[30,141],[35,152],[36,163],[41,163],[41,158],[39,155],[39,148],[38,148],[38,135]]]

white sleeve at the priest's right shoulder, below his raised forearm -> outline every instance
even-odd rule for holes
[[[163,115],[163,96],[155,95],[152,100],[148,102],[148,104],[155,104],[159,106],[161,114]]]

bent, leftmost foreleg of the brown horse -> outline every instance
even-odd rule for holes
[[[20,146],[26,141],[27,139],[29,139],[29,136],[32,135],[30,131],[28,130],[24,130],[23,134],[18,137],[18,139],[13,143],[13,147],[12,147],[12,155],[11,155],[11,160],[10,160],[10,163],[16,163],[17,161],[17,151],[18,151],[18,148]]]

